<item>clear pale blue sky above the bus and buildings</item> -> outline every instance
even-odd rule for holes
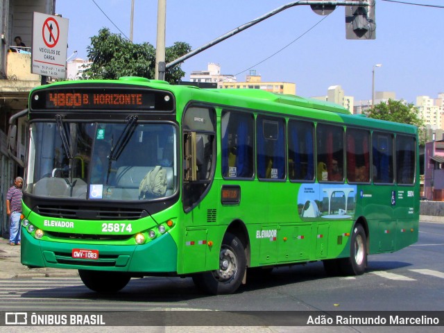
[[[444,92],[444,1],[400,0],[442,8],[375,1],[375,40],[345,39],[343,6],[327,17],[296,6],[185,60],[182,80],[214,62],[221,74],[238,81],[254,69],[264,82],[296,83],[296,94],[304,97],[323,96],[328,87],[341,85],[356,102],[371,99],[373,66],[380,64],[376,92],[395,92],[396,99],[409,103],[416,103],[416,96],[437,98]],[[167,0],[165,44],[187,42],[197,49],[290,2]],[[86,59],[90,37],[104,27],[129,37],[130,13],[131,0],[57,0],[56,14],[69,19],[68,56],[77,51]],[[156,35],[157,1],[135,0],[133,42],[155,46]]]

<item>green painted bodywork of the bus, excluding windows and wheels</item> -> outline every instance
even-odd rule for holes
[[[66,81],[51,85],[53,89],[63,85],[83,85],[83,82]],[[185,213],[182,193],[179,200],[167,210],[136,221],[74,221],[74,228],[49,226],[29,207],[24,207],[25,219],[44,231],[37,240],[34,232],[22,227],[22,263],[37,267],[82,268],[104,271],[141,273],[176,273],[186,275],[219,268],[219,249],[227,230],[239,233],[245,240],[248,266],[275,266],[295,264],[321,259],[348,257],[350,235],[356,221],[364,225],[368,238],[368,253],[384,253],[400,250],[418,240],[419,221],[419,174],[418,157],[416,182],[413,186],[400,185],[353,185],[355,208],[346,219],[302,219],[298,214],[298,194],[302,186],[318,184],[286,181],[266,182],[255,180],[224,180],[221,176],[221,112],[230,110],[254,110],[263,114],[276,114],[285,119],[305,119],[316,122],[331,122],[345,127],[366,127],[370,130],[387,130],[390,133],[417,135],[415,126],[391,123],[350,114],[339,105],[303,99],[298,96],[283,96],[261,90],[248,89],[198,89],[173,86],[146,80],[88,80],[104,85],[146,86],[164,89],[176,98],[176,121],[180,124],[182,114],[193,103],[207,105],[216,112],[217,158],[214,180],[210,190],[196,207]],[[37,87],[46,89],[46,86]],[[58,110],[62,114],[62,110]],[[99,117],[99,114],[98,114]],[[182,147],[180,147],[182,151]],[[418,151],[418,147],[417,147]],[[182,180],[180,181],[182,185]],[[239,185],[241,201],[237,205],[221,203],[221,187]],[[347,184],[345,184],[346,186]],[[317,185],[316,185],[317,186]],[[396,205],[391,205],[395,191]],[[321,194],[319,194],[321,195]],[[51,200],[51,199],[49,199]],[[118,203],[112,203],[118,205]],[[210,214],[211,212],[211,214]],[[209,217],[209,216],[212,217]],[[157,232],[157,223],[173,221],[165,234]],[[155,222],[157,221],[157,223]],[[104,235],[103,223],[131,223],[131,232],[116,232],[127,235],[120,240],[69,239],[57,237],[54,232]],[[49,223],[51,224],[51,223]],[[57,223],[53,223],[57,225]],[[155,239],[148,231],[157,232]],[[135,234],[142,233],[146,242],[135,243]],[[109,236],[111,233],[107,233]],[[73,259],[74,248],[99,250],[99,260]]]

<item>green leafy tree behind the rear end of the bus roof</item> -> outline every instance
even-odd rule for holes
[[[395,121],[396,123],[408,123],[417,126],[419,130],[420,145],[425,144],[424,135],[422,135],[425,123],[420,117],[418,108],[412,103],[389,99],[388,102],[381,102],[375,105],[375,108],[368,112],[367,117]]]

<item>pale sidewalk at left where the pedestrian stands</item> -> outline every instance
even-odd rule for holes
[[[10,246],[9,239],[0,237],[0,279],[12,278],[75,278],[75,269],[28,268],[20,263],[21,246]]]

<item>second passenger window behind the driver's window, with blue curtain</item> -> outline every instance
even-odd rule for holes
[[[285,178],[284,120],[257,117],[257,177]]]

